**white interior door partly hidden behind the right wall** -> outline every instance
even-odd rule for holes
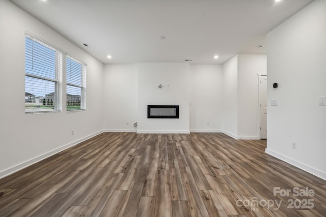
[[[260,139],[267,139],[267,76],[259,76]]]

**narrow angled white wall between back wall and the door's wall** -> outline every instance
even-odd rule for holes
[[[223,132],[238,135],[238,56],[223,64]]]

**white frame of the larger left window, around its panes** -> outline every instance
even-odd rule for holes
[[[50,77],[45,77],[41,75],[31,74],[26,72],[26,64],[28,64],[28,52],[27,49],[28,44],[26,43],[26,38],[32,40],[32,46],[33,43],[36,42],[52,51],[55,51],[55,62],[53,63],[55,65],[55,79]],[[33,59],[33,48],[31,50],[31,58]],[[33,63],[32,63],[33,66]],[[62,111],[62,78],[63,78],[63,51],[58,49],[56,46],[51,45],[50,43],[34,36],[31,33],[25,32],[25,92],[26,92],[26,77],[29,78],[35,78],[40,79],[43,81],[49,81],[55,83],[55,90],[54,90],[54,108],[53,109],[41,109],[39,107],[35,109],[26,109],[26,102],[25,102],[25,114],[33,114],[33,113],[52,113],[52,112],[61,112]],[[45,89],[45,88],[44,88]],[[26,94],[25,94],[26,97]],[[46,97],[46,96],[45,96]]]

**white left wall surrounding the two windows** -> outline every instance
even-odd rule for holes
[[[103,65],[9,1],[0,1],[0,29],[2,177],[101,132]],[[88,64],[87,111],[25,114],[25,30]]]

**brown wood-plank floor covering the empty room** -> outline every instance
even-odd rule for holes
[[[326,181],[265,147],[220,133],[102,133],[0,179],[0,216],[326,216]]]

